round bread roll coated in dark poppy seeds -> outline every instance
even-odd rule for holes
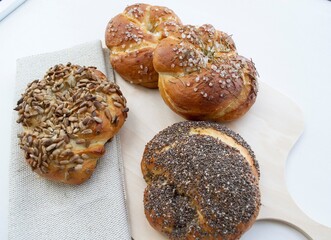
[[[166,128],[146,145],[141,168],[146,217],[170,239],[239,239],[259,213],[254,153],[219,123]]]

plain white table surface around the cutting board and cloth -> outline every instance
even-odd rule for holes
[[[301,107],[305,131],[288,158],[287,186],[307,215],[331,227],[331,2],[145,2],[173,9],[185,24],[211,23],[233,34],[238,52],[254,60],[260,80]],[[132,3],[136,2],[28,0],[0,22],[0,81],[3,84],[0,93],[0,239],[7,239],[8,232],[8,167],[16,59],[90,40],[103,40],[110,18]],[[279,121],[282,121],[281,116]],[[242,239],[305,238],[285,225],[258,222]]]

